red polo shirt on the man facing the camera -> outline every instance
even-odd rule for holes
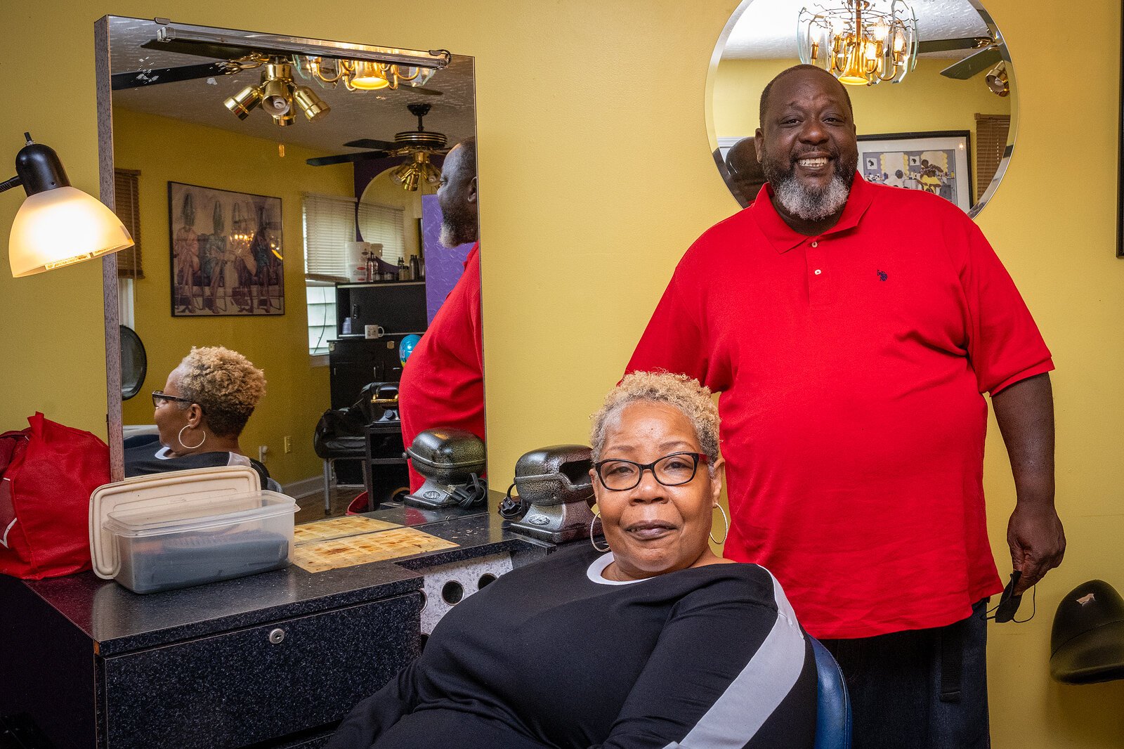
[[[855,177],[794,232],[765,186],[680,261],[628,370],[720,391],[733,527],[815,637],[942,626],[998,593],[987,401],[1053,369],[987,240],[953,204]]]

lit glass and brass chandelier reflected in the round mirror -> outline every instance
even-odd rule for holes
[[[917,64],[917,17],[903,0],[888,9],[874,0],[840,0],[803,8],[796,40],[800,62],[822,67],[847,85],[899,83]]]

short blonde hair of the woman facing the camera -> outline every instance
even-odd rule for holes
[[[592,416],[589,440],[595,461],[601,459],[610,419],[628,404],[638,401],[662,403],[681,412],[695,427],[699,448],[710,459],[713,470],[714,461],[718,459],[718,407],[708,387],[686,374],[671,372],[632,372],[609,390],[600,410]]]

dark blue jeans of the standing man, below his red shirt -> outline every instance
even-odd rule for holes
[[[854,749],[991,746],[987,603],[988,598],[980,601],[972,606],[971,616],[949,626],[822,640],[846,678]]]

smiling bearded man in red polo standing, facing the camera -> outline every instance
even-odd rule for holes
[[[1017,490],[1018,589],[1058,566],[1053,369],[995,252],[953,204],[855,173],[850,98],[798,65],[761,94],[769,184],[680,261],[628,370],[720,391],[733,515],[835,652],[862,747],[988,746],[991,394]]]

